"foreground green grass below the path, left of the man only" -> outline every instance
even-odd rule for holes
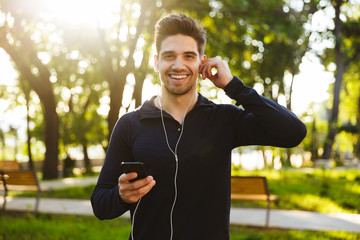
[[[1,240],[128,239],[130,220],[100,221],[74,215],[5,214],[0,216]]]

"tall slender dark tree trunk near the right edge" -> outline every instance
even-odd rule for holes
[[[336,58],[336,74],[335,84],[333,92],[333,106],[328,121],[328,133],[324,145],[324,153],[322,158],[329,160],[332,154],[332,147],[334,144],[335,136],[338,132],[338,115],[339,115],[339,103],[340,103],[340,90],[345,72],[345,62],[343,60],[343,53],[341,51],[341,20],[340,20],[340,7],[343,0],[337,0],[335,7],[335,58]]]

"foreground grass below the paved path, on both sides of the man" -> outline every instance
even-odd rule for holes
[[[0,215],[0,240],[126,240],[131,231],[130,220],[117,218],[100,221],[91,216],[6,213]],[[281,229],[230,227],[231,240],[347,240],[360,234],[345,232],[297,231]]]

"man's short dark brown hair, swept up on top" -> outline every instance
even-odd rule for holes
[[[155,46],[159,54],[162,41],[176,34],[183,34],[194,38],[198,45],[200,56],[204,55],[206,31],[194,19],[180,14],[170,14],[161,18],[155,25]]]

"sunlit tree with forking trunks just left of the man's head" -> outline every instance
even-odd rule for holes
[[[126,10],[126,5],[130,5],[130,9]],[[148,61],[151,46],[151,34],[153,26],[157,20],[156,2],[151,0],[140,1],[121,1],[120,21],[116,25],[118,35],[123,27],[127,29],[124,33],[126,38],[121,41],[118,38],[110,39],[104,29],[99,28],[99,38],[101,43],[101,51],[104,53],[104,61],[102,62],[102,71],[109,85],[110,91],[110,110],[107,117],[109,137],[116,121],[119,118],[119,110],[122,105],[126,79],[129,74],[134,74],[135,91],[133,98],[136,106],[141,104],[142,85],[149,69]],[[134,8],[140,7],[140,15],[138,18],[132,16]],[[130,29],[134,28],[133,33]],[[145,41],[143,49],[138,48],[138,42]],[[115,49],[115,51],[111,51]],[[136,66],[135,53],[142,52],[142,60],[140,65]],[[127,53],[126,55],[124,53]],[[128,108],[129,106],[124,106]]]

